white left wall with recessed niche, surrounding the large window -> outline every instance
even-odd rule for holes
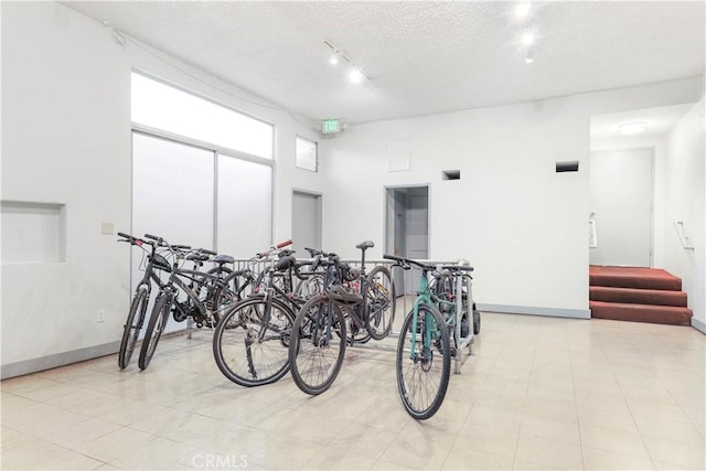
[[[322,191],[320,175],[295,168],[295,136],[315,139],[310,124],[253,105],[263,100],[163,53],[122,47],[111,30],[62,4],[1,8],[2,200],[66,205],[66,261],[2,266],[3,376],[116,350],[130,248],[100,227],[130,231],[132,67],[276,125],[276,240],[290,236],[292,186]]]

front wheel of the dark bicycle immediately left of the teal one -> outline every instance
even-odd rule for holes
[[[345,355],[345,320],[325,295],[307,301],[295,319],[289,364],[297,386],[315,396],[338,376]]]

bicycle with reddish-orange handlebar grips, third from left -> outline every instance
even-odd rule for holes
[[[240,386],[260,386],[289,371],[287,349],[297,310],[306,302],[292,292],[292,277],[303,278],[303,265],[293,251],[282,250],[287,240],[258,254],[255,261],[270,265],[258,276],[248,298],[232,306],[213,336],[213,355],[221,373]],[[314,267],[315,268],[315,267]]]

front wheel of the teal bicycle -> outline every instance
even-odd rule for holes
[[[407,413],[417,420],[434,416],[446,396],[451,371],[449,334],[441,314],[420,306],[417,323],[407,314],[397,344],[397,388]],[[414,342],[413,342],[414,334]]]

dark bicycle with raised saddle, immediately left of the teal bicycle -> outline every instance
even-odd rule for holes
[[[341,263],[335,254],[320,254],[328,257],[322,261],[325,291],[301,308],[289,345],[292,378],[307,394],[321,394],[333,384],[346,343],[382,340],[392,331],[395,289],[389,270],[375,267],[370,275],[365,272],[365,250],[373,246],[371,240],[356,245],[362,253],[357,269]]]

